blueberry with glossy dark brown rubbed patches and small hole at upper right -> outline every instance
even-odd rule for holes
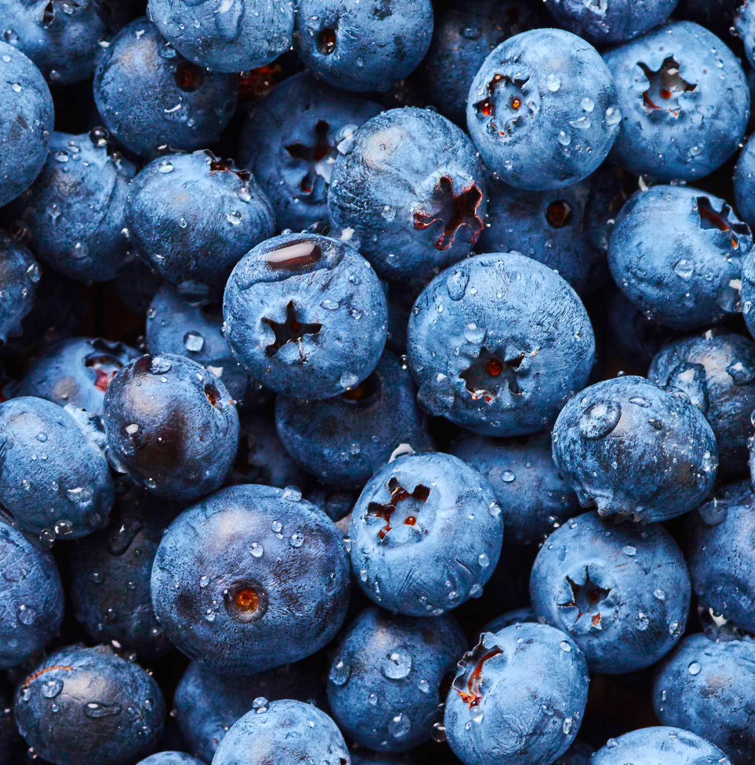
[[[173,353],[119,369],[103,412],[116,470],[169,500],[220,487],[239,446],[239,415],[222,380]]]

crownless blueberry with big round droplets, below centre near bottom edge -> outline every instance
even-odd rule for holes
[[[417,619],[363,610],[330,661],[334,719],[368,749],[405,751],[428,741],[442,701],[438,688],[466,645],[449,614]]]

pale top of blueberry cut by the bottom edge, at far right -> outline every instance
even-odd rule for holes
[[[708,765],[727,762],[714,744],[682,728],[640,728],[610,741],[592,756],[591,765]]]

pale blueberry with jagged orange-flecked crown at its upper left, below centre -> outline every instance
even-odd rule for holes
[[[400,614],[438,616],[482,593],[503,519],[477,470],[451,454],[409,454],[367,482],[349,536],[351,568],[367,597]]]

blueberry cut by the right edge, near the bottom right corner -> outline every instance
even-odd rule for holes
[[[721,747],[734,765],[753,761],[755,644],[751,638],[715,643],[685,637],[660,662],[652,706],[664,725],[683,728]]]

